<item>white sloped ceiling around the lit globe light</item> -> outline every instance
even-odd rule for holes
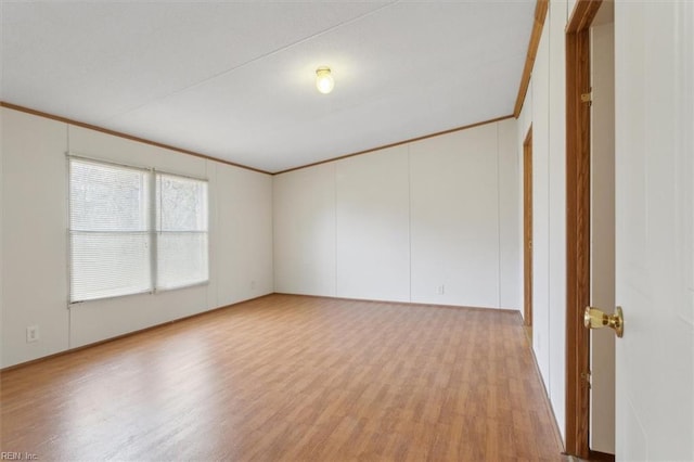
[[[275,172],[512,114],[535,3],[2,0],[0,98]]]

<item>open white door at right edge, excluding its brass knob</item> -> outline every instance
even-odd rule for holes
[[[617,460],[694,460],[694,4],[615,3]]]

